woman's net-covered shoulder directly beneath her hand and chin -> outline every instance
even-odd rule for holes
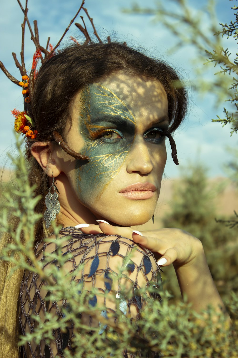
[[[150,250],[118,235],[85,234],[79,228],[66,227],[60,230],[57,237],[52,235],[35,247],[35,256],[42,263],[43,269],[48,265],[57,265],[54,255],[59,254],[66,258],[69,256],[62,268],[66,274],[75,271],[79,265],[83,266],[83,271],[77,271],[77,276],[81,276],[76,277],[79,280],[88,281],[90,277],[93,280],[95,275],[103,280],[105,275],[118,275],[125,270],[130,281],[141,287],[157,281],[157,276],[160,276],[159,267]],[[52,256],[52,260],[47,256]],[[25,279],[31,278],[32,274],[25,276]]]

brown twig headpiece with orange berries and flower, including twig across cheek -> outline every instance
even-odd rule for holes
[[[21,57],[21,63],[17,60],[16,54],[15,52],[12,52],[12,56],[14,58],[14,62],[16,64],[16,67],[19,68],[20,70],[20,74],[21,74],[21,81],[19,81],[18,79],[16,79],[15,77],[13,77],[5,68],[4,64],[0,61],[0,68],[1,70],[5,73],[5,75],[15,84],[17,84],[17,86],[22,87],[22,95],[24,98],[24,111],[18,111],[16,109],[14,109],[12,111],[12,114],[15,117],[15,124],[14,124],[14,128],[16,132],[21,132],[22,134],[24,134],[26,136],[27,139],[36,139],[37,137],[37,130],[34,130],[34,121],[32,118],[30,118],[29,113],[27,112],[27,104],[30,103],[31,101],[31,95],[32,95],[32,91],[34,89],[34,83],[35,80],[37,78],[37,64],[39,61],[41,61],[41,64],[45,63],[48,59],[50,59],[52,56],[54,56],[54,54],[56,53],[57,48],[59,47],[59,45],[61,44],[63,38],[65,37],[65,34],[67,33],[67,31],[69,30],[70,26],[72,25],[72,23],[74,22],[74,20],[76,19],[77,15],[79,14],[80,10],[83,9],[88,17],[88,19],[90,20],[90,23],[93,27],[93,34],[96,36],[96,38],[98,39],[98,41],[100,43],[102,43],[100,37],[97,34],[97,31],[95,29],[95,26],[93,24],[93,19],[90,18],[90,16],[88,15],[87,9],[83,7],[85,0],[82,0],[82,3],[80,5],[79,10],[77,11],[77,13],[75,14],[74,18],[70,21],[69,25],[67,26],[67,28],[65,29],[64,33],[62,34],[60,40],[57,42],[57,44],[55,45],[55,47],[53,47],[50,44],[50,37],[48,37],[47,39],[47,43],[46,43],[46,47],[43,47],[40,45],[39,42],[39,31],[38,31],[38,26],[37,26],[37,20],[34,20],[34,32],[31,28],[27,13],[28,13],[28,8],[27,8],[27,3],[28,0],[26,0],[25,2],[25,8],[23,8],[20,0],[17,0],[17,3],[19,4],[23,14],[24,14],[24,20],[23,23],[21,24],[21,32],[22,32],[22,37],[21,37],[21,52],[20,52],[20,57]],[[79,28],[79,30],[83,33],[83,35],[85,36],[85,43],[92,43],[92,40],[90,38],[90,35],[88,34],[85,22],[83,20],[83,16],[80,16],[82,21],[83,21],[83,25],[84,27],[79,24],[79,23],[75,23],[75,25],[77,26],[77,28]],[[25,60],[24,60],[24,40],[25,40],[25,27],[26,24],[30,30],[30,34],[31,34],[31,40],[34,42],[35,47],[36,47],[36,51],[33,55],[33,60],[32,60],[32,67],[31,67],[31,71],[29,74],[27,74],[26,71],[26,66],[25,66]],[[79,43],[77,42],[76,39],[74,39],[73,37],[70,37],[71,40],[73,40],[74,42],[76,42],[78,45]],[[110,37],[108,36],[107,38],[108,43],[110,43]],[[76,153],[74,150],[70,149],[70,147],[64,142],[64,140],[62,139],[61,135],[57,132],[54,131],[53,132],[53,136],[55,141],[62,147],[62,149],[69,155],[71,155],[72,157],[76,158],[76,159],[80,159],[80,160],[88,160],[89,158],[85,155],[81,155],[79,153]]]

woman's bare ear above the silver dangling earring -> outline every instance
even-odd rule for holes
[[[53,173],[56,178],[60,174],[61,170],[56,160],[54,146],[50,142],[33,143],[31,146],[31,154],[48,176],[52,176]]]

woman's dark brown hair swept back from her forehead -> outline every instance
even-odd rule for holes
[[[177,129],[186,114],[187,93],[181,86],[178,74],[168,64],[117,42],[74,44],[41,66],[34,88],[31,89],[31,102],[27,111],[34,120],[34,129],[38,131],[37,140],[54,140],[55,130],[64,137],[66,122],[71,120],[71,104],[77,93],[86,85],[120,70],[157,79],[162,83],[168,98],[170,133]],[[30,182],[38,184],[36,194],[42,196],[37,212],[43,213],[48,178],[31,157],[30,142],[27,157],[31,161]],[[41,221],[36,229],[36,239],[47,234],[42,227]]]

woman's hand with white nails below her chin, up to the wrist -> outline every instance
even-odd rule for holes
[[[141,236],[129,227],[112,226],[99,222],[98,226],[92,224],[89,227],[81,228],[81,230],[90,234],[121,235],[132,239],[137,244],[152,251],[156,260],[159,259],[158,265],[160,266],[168,266],[171,263],[175,268],[189,265],[196,260],[198,255],[203,253],[201,241],[181,229],[143,231],[141,233],[143,236]]]

